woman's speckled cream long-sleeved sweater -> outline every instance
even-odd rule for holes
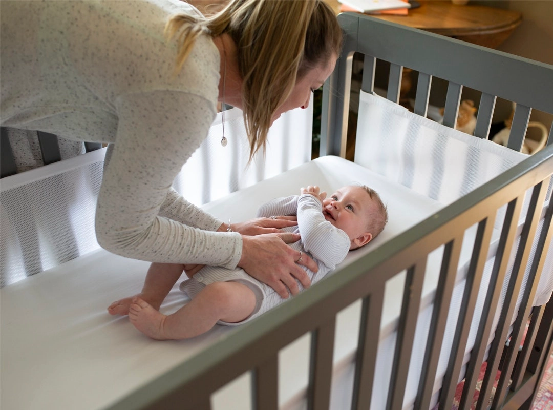
[[[238,233],[171,184],[216,115],[220,55],[201,35],[178,75],[164,38],[180,0],[0,2],[0,124],[113,143],[96,211],[107,250],[236,267]],[[112,152],[111,152],[112,149]],[[195,229],[199,228],[199,229]]]

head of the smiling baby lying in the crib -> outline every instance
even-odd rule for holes
[[[322,201],[322,213],[327,221],[347,233],[350,250],[369,243],[388,223],[388,211],[380,196],[364,185],[338,189]]]

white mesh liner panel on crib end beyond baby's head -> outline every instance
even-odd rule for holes
[[[451,204],[528,155],[415,115],[361,93],[355,162]]]

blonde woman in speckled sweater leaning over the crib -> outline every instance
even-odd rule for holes
[[[217,101],[242,108],[251,154],[306,107],[341,30],[320,0],[234,0],[211,18],[178,0],[2,1],[1,123],[108,142],[98,243],[150,262],[234,268],[286,297],[316,264],[276,233],[285,217],[226,224],[171,188]],[[298,263],[295,263],[298,262]]]

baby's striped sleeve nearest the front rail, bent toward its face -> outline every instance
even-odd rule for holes
[[[325,219],[320,201],[310,194],[298,198],[297,216],[304,250],[329,269],[335,269],[351,245],[346,232]]]

